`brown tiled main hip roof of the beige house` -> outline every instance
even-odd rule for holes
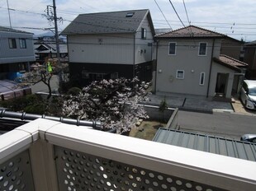
[[[198,26],[187,26],[178,30],[173,30],[161,35],[156,35],[156,38],[225,38],[226,35],[206,30]]]

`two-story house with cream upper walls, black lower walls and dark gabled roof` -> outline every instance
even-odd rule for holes
[[[152,79],[154,26],[148,9],[81,14],[62,35],[70,77],[82,85],[117,77]]]

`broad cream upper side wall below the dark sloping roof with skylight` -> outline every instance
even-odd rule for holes
[[[70,63],[134,63],[134,35],[69,35]]]

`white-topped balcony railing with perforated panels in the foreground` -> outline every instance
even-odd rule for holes
[[[0,190],[256,190],[256,163],[36,119],[0,136]]]

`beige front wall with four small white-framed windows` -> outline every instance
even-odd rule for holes
[[[175,42],[176,55],[168,55],[168,43]],[[198,56],[199,43],[206,42],[206,56]],[[207,95],[211,67],[212,39],[159,40],[157,55],[156,91],[191,95]],[[220,40],[215,40],[213,57],[220,54]],[[184,79],[177,79],[177,70],[184,71]],[[205,72],[204,85],[200,85],[201,72]]]

